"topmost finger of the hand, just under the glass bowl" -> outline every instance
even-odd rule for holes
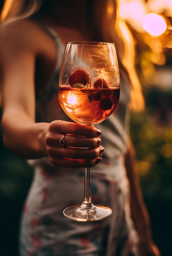
[[[52,121],[50,123],[50,130],[55,130],[62,134],[74,134],[87,137],[99,137],[101,135],[101,130],[94,126],[85,126],[61,120]]]

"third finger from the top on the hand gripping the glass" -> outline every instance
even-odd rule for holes
[[[97,146],[96,148],[51,147],[47,148],[47,152],[51,158],[65,157],[70,159],[94,159],[103,154],[104,148],[102,146]]]

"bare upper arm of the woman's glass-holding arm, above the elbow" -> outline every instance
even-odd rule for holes
[[[36,54],[27,23],[13,22],[1,28],[0,69],[4,112],[20,110],[34,120]]]

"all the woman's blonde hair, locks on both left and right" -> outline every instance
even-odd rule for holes
[[[0,22],[29,18],[38,13],[46,0],[6,0],[2,9]],[[120,73],[130,82],[130,108],[141,111],[145,107],[141,84],[135,69],[134,40],[124,20],[118,14],[118,0],[90,0],[94,5],[92,28],[97,31],[100,40],[115,43]],[[103,18],[102,18],[103,17]],[[90,18],[90,17],[89,17]]]

